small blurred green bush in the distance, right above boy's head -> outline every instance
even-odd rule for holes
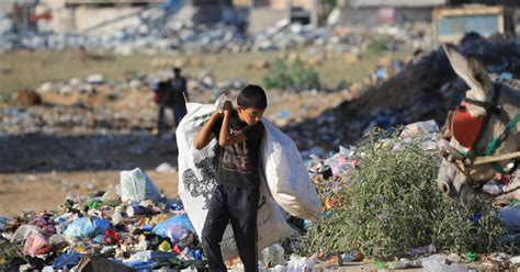
[[[267,89],[296,91],[320,88],[319,76],[315,69],[306,67],[298,59],[287,65],[280,58],[273,61],[262,77],[262,86]]]

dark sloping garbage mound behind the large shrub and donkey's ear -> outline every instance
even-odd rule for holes
[[[486,39],[468,33],[457,50],[481,57],[496,80],[520,86],[520,48],[513,39]],[[448,111],[461,102],[466,90],[439,48],[408,64],[393,78],[364,90],[358,99],[285,128],[301,150],[319,147],[321,152],[330,151],[336,146],[358,143],[372,127],[392,128],[422,120],[443,124]]]

